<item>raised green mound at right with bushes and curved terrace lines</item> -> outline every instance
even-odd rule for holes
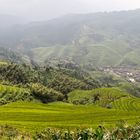
[[[90,91],[73,91],[69,102],[74,104],[95,104],[124,111],[140,110],[140,99],[117,88],[99,88]]]

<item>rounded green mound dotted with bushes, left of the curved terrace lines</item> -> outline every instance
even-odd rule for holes
[[[129,97],[129,94],[117,88],[98,88],[87,91],[73,91],[69,93],[68,101],[74,104],[97,104],[111,108],[112,102],[123,97]]]

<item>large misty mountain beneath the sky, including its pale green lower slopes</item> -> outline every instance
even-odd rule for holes
[[[139,25],[139,9],[72,14],[13,26],[0,33],[0,44],[22,51],[38,63],[70,58],[86,66],[139,67]]]

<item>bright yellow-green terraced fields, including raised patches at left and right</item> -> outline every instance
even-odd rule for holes
[[[112,128],[117,121],[125,120],[130,124],[140,121],[140,99],[117,88],[100,88],[91,91],[74,91],[69,101],[93,97],[99,94],[101,100],[95,104],[73,105],[54,102],[43,104],[35,101],[21,101],[30,97],[27,89],[0,85],[1,101],[7,103],[0,106],[0,124],[8,124],[29,132],[47,127],[76,128],[105,125]],[[15,100],[16,99],[16,100]],[[20,100],[18,102],[15,102]],[[110,109],[103,107],[111,104]]]

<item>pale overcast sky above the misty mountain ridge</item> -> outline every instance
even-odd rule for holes
[[[0,14],[29,21],[48,20],[70,13],[140,8],[140,0],[0,0]]]

